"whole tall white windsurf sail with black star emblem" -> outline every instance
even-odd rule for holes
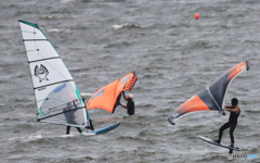
[[[37,24],[18,21],[38,109],[38,121],[91,126],[79,90],[51,41]]]

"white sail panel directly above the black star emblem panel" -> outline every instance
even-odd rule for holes
[[[25,41],[25,49],[29,62],[60,58],[52,45],[46,40]]]

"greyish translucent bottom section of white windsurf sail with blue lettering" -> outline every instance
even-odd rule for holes
[[[67,82],[55,86],[47,98],[39,101],[41,104],[38,104],[38,120],[72,125],[84,124],[87,122],[86,116],[82,116],[86,112],[84,104],[77,95],[75,83]]]

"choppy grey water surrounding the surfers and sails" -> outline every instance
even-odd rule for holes
[[[225,162],[216,138],[229,116],[200,112],[167,118],[226,70],[249,61],[229,89],[239,99],[235,140],[260,156],[260,2],[256,0],[4,0],[0,2],[1,162]],[[199,13],[198,21],[194,14]],[[65,126],[36,123],[36,102],[18,20],[37,23],[87,95],[135,71],[134,116],[91,110],[103,136],[65,137]],[[89,97],[87,97],[89,98]],[[224,135],[229,143],[229,133]],[[235,159],[232,162],[259,162]]]

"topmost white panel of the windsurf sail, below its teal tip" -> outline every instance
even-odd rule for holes
[[[26,39],[47,39],[40,29],[38,29],[31,25],[24,24],[22,22],[20,23],[20,25],[21,25],[21,30],[22,30],[24,40],[26,40]]]

